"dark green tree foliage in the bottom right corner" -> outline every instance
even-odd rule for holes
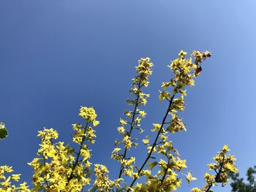
[[[239,174],[233,174],[233,182],[230,184],[233,192],[256,192],[256,166],[250,167],[246,173],[247,182],[244,182],[244,178],[239,178]]]

